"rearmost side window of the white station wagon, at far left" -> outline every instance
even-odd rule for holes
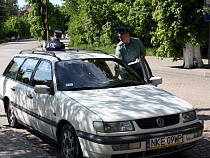
[[[4,71],[3,75],[14,79],[19,67],[24,60],[25,58],[13,58]]]

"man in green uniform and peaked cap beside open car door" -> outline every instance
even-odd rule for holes
[[[136,63],[133,64],[133,68],[139,73],[140,76],[143,76],[140,64],[138,63],[141,55],[146,56],[146,49],[143,43],[139,38],[130,37],[130,28],[117,27],[114,28],[114,30],[117,31],[117,36],[120,39],[120,42],[116,47],[116,57],[123,60],[128,65],[130,65],[131,62]],[[119,66],[116,65],[116,67]]]

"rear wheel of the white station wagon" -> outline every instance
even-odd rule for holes
[[[11,127],[20,126],[14,114],[14,107],[12,106],[10,101],[8,102],[8,107],[7,107],[7,119],[8,119],[9,126]]]

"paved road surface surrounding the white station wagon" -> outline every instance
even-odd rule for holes
[[[3,73],[6,65],[12,59],[14,54],[19,53],[22,49],[34,49],[40,45],[40,42],[34,40],[24,40],[21,42],[10,42],[8,44],[0,45],[0,74]],[[174,154],[171,158],[210,158],[210,80],[209,78],[200,77],[194,74],[177,73],[175,68],[169,71],[158,68],[157,59],[154,57],[147,57],[149,65],[151,65],[154,76],[161,76],[163,84],[158,87],[164,89],[176,96],[191,103],[198,112],[198,116],[205,123],[204,139],[191,150],[182,153]],[[7,126],[6,115],[2,114],[0,126]],[[60,152],[57,145],[38,133],[27,128],[14,129],[13,131],[20,136],[26,138],[31,143],[37,145],[40,149],[46,151],[53,157],[60,157]],[[1,157],[1,155],[0,155]]]

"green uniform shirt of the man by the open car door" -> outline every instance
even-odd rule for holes
[[[139,38],[131,37],[129,44],[120,41],[116,47],[116,56],[121,57],[127,64],[135,61],[145,52],[146,49]]]

